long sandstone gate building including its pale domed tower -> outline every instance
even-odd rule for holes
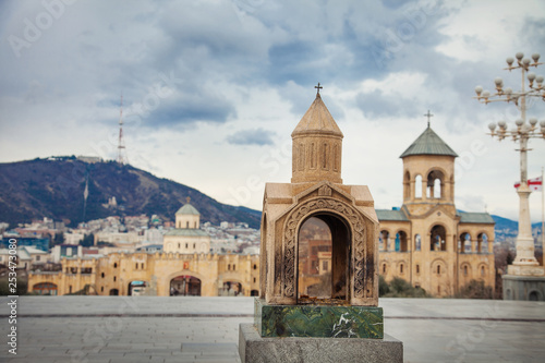
[[[257,295],[257,255],[210,254],[210,237],[187,203],[165,235],[164,252],[111,253],[100,258],[63,258],[59,273],[32,273],[28,289],[66,294],[87,289],[99,295]],[[47,288],[47,290],[46,290]]]

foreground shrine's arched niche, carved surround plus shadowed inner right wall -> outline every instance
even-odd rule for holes
[[[319,218],[331,230],[331,290],[341,287],[346,279],[347,293],[338,294],[346,298],[340,300],[352,305],[376,300],[375,241],[373,233],[370,239],[366,233],[367,228],[373,228],[372,222],[366,227],[366,218],[348,203],[320,197],[300,203],[286,219],[281,258],[283,301],[298,303],[299,233],[311,217]]]

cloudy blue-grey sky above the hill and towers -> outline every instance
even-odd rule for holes
[[[320,82],[343,181],[378,208],[401,204],[399,156],[429,109],[460,155],[457,207],[518,218],[517,145],[485,134],[517,108],[472,96],[496,76],[520,89],[502,70],[517,51],[545,58],[543,1],[1,1],[0,34],[0,162],[116,158],[122,94],[131,165],[261,209],[265,182],[290,181],[290,134]],[[534,178],[545,142],[530,144]]]

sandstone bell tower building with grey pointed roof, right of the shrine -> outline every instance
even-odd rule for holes
[[[453,295],[471,280],[495,287],[494,220],[455,206],[457,154],[428,126],[401,155],[403,205],[377,210],[379,274],[432,295]]]

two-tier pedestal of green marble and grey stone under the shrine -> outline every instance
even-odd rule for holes
[[[269,305],[255,299],[254,324],[239,327],[242,363],[403,362],[403,343],[384,334],[383,308]]]

